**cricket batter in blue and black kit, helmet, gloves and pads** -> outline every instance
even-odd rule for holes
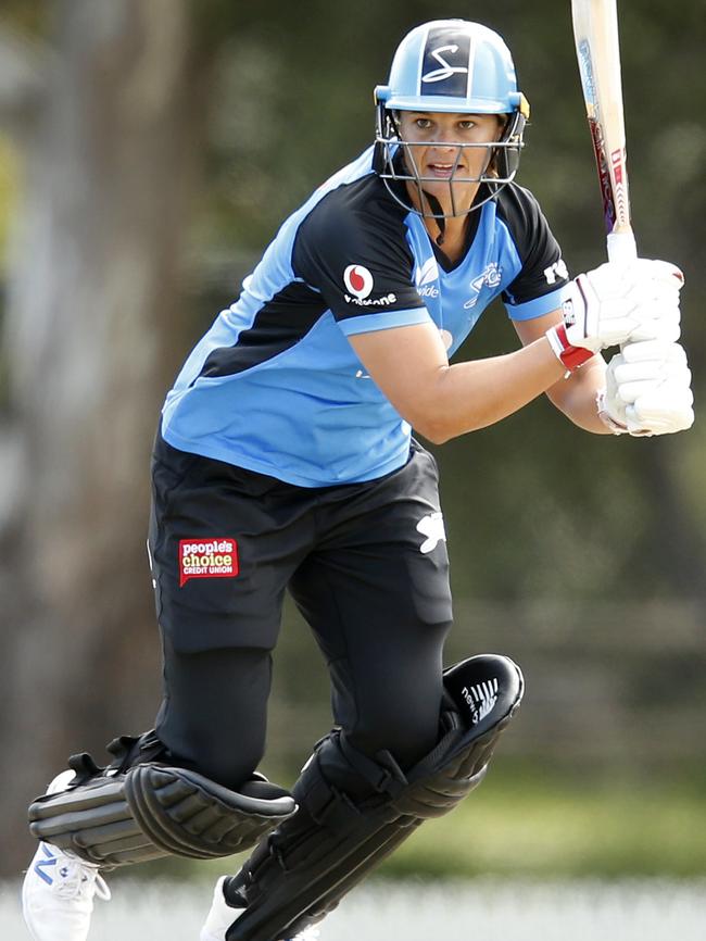
[[[571,280],[515,183],[529,105],[501,37],[401,42],[373,147],[282,225],[168,393],[149,548],[164,648],[155,729],[76,755],[30,807],[35,941],[85,941],[101,870],[254,846],[201,941],[289,941],[482,778],[522,692],[503,656],[442,670],[452,622],[440,444],[542,392],[596,435],[693,422],[682,276]],[[514,352],[449,364],[501,298]],[[608,364],[603,350],[628,344]],[[256,771],[289,589],[326,657],[333,730],[290,794]]]

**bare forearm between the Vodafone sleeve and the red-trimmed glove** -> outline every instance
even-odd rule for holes
[[[503,356],[446,366],[425,390],[424,412],[413,425],[441,444],[512,415],[554,386],[564,372],[544,337]]]

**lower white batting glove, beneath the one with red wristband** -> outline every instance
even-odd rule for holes
[[[669,435],[694,423],[686,354],[679,343],[629,343],[606,371],[598,414],[616,435]]]

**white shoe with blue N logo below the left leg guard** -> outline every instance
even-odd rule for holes
[[[63,791],[73,777],[63,771],[47,793]],[[86,941],[94,898],[111,898],[98,866],[40,842],[22,886],[22,912],[35,941]]]

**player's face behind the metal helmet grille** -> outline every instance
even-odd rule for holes
[[[468,210],[492,153],[482,145],[499,140],[503,124],[497,114],[400,112],[399,131],[407,145],[407,168],[423,178],[423,190],[436,197],[444,212],[455,209],[461,214]],[[476,146],[459,146],[464,143]],[[418,200],[417,187],[407,186],[413,199]]]

